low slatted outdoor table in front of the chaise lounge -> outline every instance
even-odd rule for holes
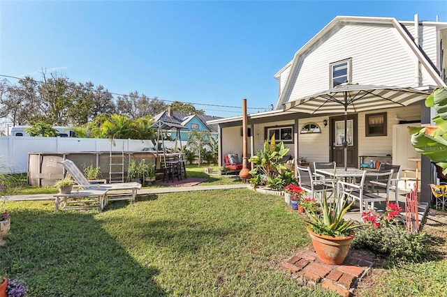
[[[66,209],[87,209],[98,207],[101,211],[105,206],[108,190],[82,190],[70,194],[56,194],[54,197],[54,212]],[[87,198],[87,199],[86,199]],[[72,206],[70,206],[70,204]]]

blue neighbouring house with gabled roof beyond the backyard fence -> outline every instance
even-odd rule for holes
[[[182,141],[188,140],[189,132],[192,130],[198,130],[198,131],[210,131],[212,137],[214,139],[218,138],[218,129],[219,125],[217,124],[207,124],[207,121],[213,121],[222,119],[219,116],[205,116],[201,114],[186,114],[184,112],[175,112],[173,109],[168,106],[168,110],[161,112],[160,114],[157,114],[154,116],[154,121],[163,121],[165,123],[174,123],[176,125],[182,125],[184,126],[183,129],[180,129],[180,135],[179,137],[182,139]],[[171,137],[175,139],[177,130],[175,128],[166,130],[166,132],[170,133]]]

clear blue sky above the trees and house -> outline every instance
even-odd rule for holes
[[[335,16],[416,13],[447,22],[447,1],[0,0],[0,75],[41,79],[46,69],[237,116],[242,98],[249,113],[276,104],[273,75]]]

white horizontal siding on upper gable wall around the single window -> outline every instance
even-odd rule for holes
[[[330,63],[348,58],[354,83],[415,86],[416,56],[393,26],[350,24],[338,26],[300,56],[285,101],[329,89]]]

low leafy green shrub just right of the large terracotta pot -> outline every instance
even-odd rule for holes
[[[418,260],[428,250],[427,241],[425,232],[411,233],[398,226],[365,226],[357,229],[351,247],[402,260]]]

